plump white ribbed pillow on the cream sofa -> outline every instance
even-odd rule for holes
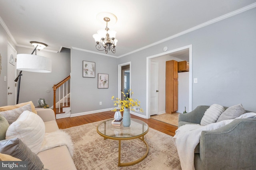
[[[19,138],[37,154],[42,146],[44,134],[44,121],[37,114],[27,110],[8,127],[6,139]]]

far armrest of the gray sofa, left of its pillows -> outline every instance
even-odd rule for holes
[[[201,119],[204,116],[204,112],[209,107],[210,106],[197,106],[194,110],[192,110],[188,113],[179,114],[178,121],[200,124]]]

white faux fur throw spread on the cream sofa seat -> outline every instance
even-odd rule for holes
[[[74,145],[70,135],[62,130],[45,133],[44,141],[39,152],[63,145],[66,145],[68,147],[70,155],[73,157]]]

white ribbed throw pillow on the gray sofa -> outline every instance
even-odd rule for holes
[[[200,124],[205,126],[211,123],[215,123],[224,110],[225,109],[223,106],[219,104],[213,104],[204,112],[204,116],[202,117]]]

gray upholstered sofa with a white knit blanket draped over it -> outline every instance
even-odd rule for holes
[[[209,107],[198,106],[189,113],[180,114],[178,127],[200,124]],[[256,169],[256,118],[236,119],[224,127],[202,131],[195,149],[194,166],[196,170]]]

